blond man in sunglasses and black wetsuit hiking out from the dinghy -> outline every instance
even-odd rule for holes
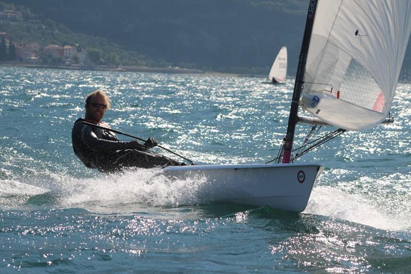
[[[87,96],[85,117],[74,122],[71,141],[74,153],[87,168],[101,172],[117,172],[127,167],[155,168],[165,166],[183,166],[185,163],[160,156],[147,149],[155,147],[156,139],[150,137],[144,147],[137,140],[124,142],[107,130],[99,129],[82,121],[109,128],[101,121],[106,110],[110,108],[110,99],[101,90]]]

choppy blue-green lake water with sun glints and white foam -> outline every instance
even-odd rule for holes
[[[96,89],[115,129],[197,163],[261,163],[284,137],[293,79],[0,67],[1,273],[410,271],[411,85],[394,124],[299,160],[326,166],[301,214],[210,204],[201,178],[86,169],[70,133]]]

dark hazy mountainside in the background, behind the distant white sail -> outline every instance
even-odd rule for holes
[[[266,75],[282,46],[295,75],[307,9],[300,0],[3,2],[25,14],[21,26],[0,25],[15,40],[115,51],[124,65],[252,75]],[[411,78],[409,46],[405,70],[402,79]]]

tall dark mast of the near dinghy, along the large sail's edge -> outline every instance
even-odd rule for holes
[[[310,0],[307,13],[307,21],[301,45],[300,58],[298,59],[297,73],[295,76],[294,92],[292,94],[290,116],[288,118],[287,134],[284,138],[283,163],[290,163],[292,143],[294,140],[295,125],[298,116],[298,101],[300,101],[301,91],[303,88],[303,79],[305,72],[305,64],[307,62],[307,53],[310,46],[312,26],[314,24],[315,10],[319,0]]]

